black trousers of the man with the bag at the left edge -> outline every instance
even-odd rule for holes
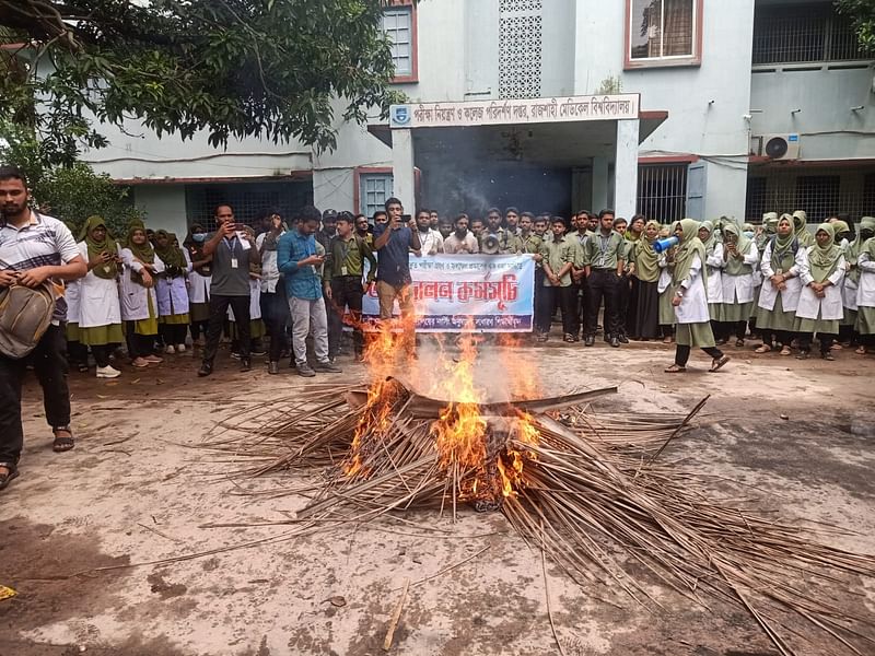
[[[46,421],[52,429],[70,423],[70,390],[67,387],[63,327],[49,326],[27,358],[13,360],[0,355],[0,464],[15,467],[24,446],[21,425],[21,385],[27,364],[33,364],[43,388]]]

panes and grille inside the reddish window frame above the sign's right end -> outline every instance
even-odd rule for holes
[[[692,57],[696,0],[632,0],[631,59]]]

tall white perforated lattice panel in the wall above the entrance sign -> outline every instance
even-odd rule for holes
[[[499,3],[499,97],[540,97],[542,0]]]

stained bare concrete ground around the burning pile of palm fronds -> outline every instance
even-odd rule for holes
[[[853,529],[833,541],[875,552],[875,358],[845,350],[832,363],[800,362],[732,347],[719,374],[696,353],[695,370],[669,376],[673,348],[661,343],[493,349],[485,362],[514,370],[498,380],[518,367],[539,372],[550,395],[619,385],[620,398],[602,408],[676,412],[712,395],[665,457],[744,484],[763,511]],[[365,374],[340,364],[347,382]],[[79,442],[60,455],[28,382],[22,477],[0,493],[0,585],[18,590],[0,600],[0,656],[383,654],[405,577],[395,654],[559,653],[545,583],[568,655],[774,653],[734,608],[709,612],[654,584],[664,610],[651,612],[549,563],[545,581],[539,552],[498,514],[465,512],[456,525],[419,514],[294,539],[281,539],[288,525],[207,528],[281,522],[302,507],[301,496],[246,492],[291,488],[305,473],[233,479],[233,464],[192,447],[217,420],[305,382],[288,370],[268,376],[260,363],[241,374],[230,359],[208,379],[196,368],[187,353],[147,371],[125,366],[110,382],[72,374]],[[731,492],[721,485],[715,496]],[[269,538],[279,539],[238,548]],[[149,564],[187,554],[201,555]],[[848,585],[875,616],[875,584]]]

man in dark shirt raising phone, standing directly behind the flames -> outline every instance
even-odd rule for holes
[[[386,201],[388,223],[374,226],[374,248],[376,249],[376,294],[380,298],[380,318],[392,319],[395,300],[401,311],[404,342],[410,355],[416,354],[416,331],[412,324],[413,295],[410,289],[410,250],[420,250],[419,231],[411,218],[407,225],[401,223],[404,207],[397,198]]]

